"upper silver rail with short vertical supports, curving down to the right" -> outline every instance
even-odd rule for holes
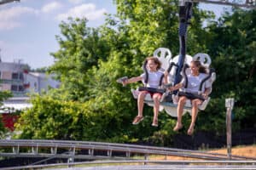
[[[181,156],[204,160],[228,160],[224,154],[199,150],[181,150],[137,144],[114,144],[68,140],[0,140],[0,156],[13,157],[58,157],[73,159],[131,159],[131,156],[150,155]],[[8,150],[9,148],[9,150]],[[65,152],[65,153],[64,153]],[[256,157],[234,156],[231,160],[256,160]]]

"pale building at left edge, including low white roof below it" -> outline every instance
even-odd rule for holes
[[[3,102],[0,113],[31,107],[29,94],[42,94],[49,88],[59,88],[59,86],[60,82],[56,81],[53,75],[29,72],[20,60],[7,63],[1,62],[0,59],[0,91],[9,90],[13,94],[12,98]]]

